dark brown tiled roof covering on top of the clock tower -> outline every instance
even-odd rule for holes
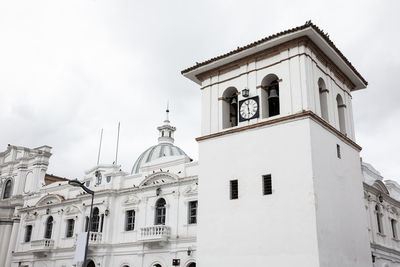
[[[232,50],[232,51],[230,51],[230,52],[228,52],[228,53],[226,53],[226,54],[223,54],[223,55],[220,55],[220,56],[217,56],[217,57],[213,57],[213,58],[211,58],[211,59],[209,59],[209,60],[206,60],[206,61],[203,61],[203,62],[201,62],[201,63],[196,63],[196,65],[194,65],[194,66],[192,66],[192,67],[190,67],[190,68],[187,68],[187,69],[182,70],[181,73],[182,73],[182,74],[185,74],[185,73],[190,72],[190,71],[192,71],[192,70],[195,70],[195,69],[197,69],[197,68],[199,68],[199,67],[208,65],[208,64],[210,64],[210,63],[212,63],[212,62],[214,62],[214,61],[217,61],[217,60],[226,58],[226,57],[228,57],[228,56],[231,56],[231,55],[237,54],[237,53],[239,53],[239,52],[242,52],[242,51],[244,51],[244,50],[246,50],[246,49],[255,47],[255,46],[259,45],[259,44],[268,42],[268,41],[270,41],[270,40],[276,39],[276,38],[278,38],[278,37],[284,36],[284,35],[289,34],[289,33],[294,33],[294,32],[297,32],[297,31],[304,30],[304,29],[309,28],[309,27],[310,27],[310,28],[313,28],[318,34],[320,34],[320,35],[322,36],[322,38],[329,44],[329,46],[331,46],[331,47],[335,50],[335,52],[343,59],[343,61],[346,62],[346,64],[354,71],[354,73],[355,73],[366,85],[368,84],[368,82],[361,76],[361,74],[356,70],[356,68],[351,64],[351,62],[342,54],[342,52],[340,52],[340,50],[335,46],[335,44],[331,41],[331,39],[329,39],[329,36],[328,36],[326,33],[324,33],[324,31],[321,30],[317,25],[313,24],[313,23],[311,22],[311,20],[310,20],[310,21],[307,21],[307,22],[306,22],[304,25],[302,25],[302,26],[298,26],[298,27],[295,27],[295,28],[292,28],[292,29],[289,29],[289,30],[286,30],[286,31],[282,31],[282,32],[279,32],[279,33],[270,35],[270,36],[268,36],[268,37],[265,37],[265,38],[263,38],[263,39],[260,39],[260,40],[258,40],[258,41],[255,41],[255,42],[253,42],[253,43],[251,43],[251,44],[248,44],[248,45],[246,45],[246,46],[238,47],[237,49]]]

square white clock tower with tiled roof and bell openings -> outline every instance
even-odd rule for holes
[[[182,71],[200,85],[198,266],[372,266],[352,92],[311,22]]]

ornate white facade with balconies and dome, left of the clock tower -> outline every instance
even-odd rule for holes
[[[159,131],[165,129],[175,131],[168,119]],[[198,164],[173,142],[173,135],[160,137],[154,147],[165,147],[165,154],[147,155],[138,173],[123,172],[112,164],[85,173],[83,181],[95,191],[94,207],[99,211],[98,229],[89,238],[88,258],[94,265],[88,266],[170,266],[173,259],[179,259],[180,266],[195,266],[197,215],[193,221],[189,206],[195,202],[197,207]],[[157,223],[160,199],[166,202],[165,219]],[[90,200],[90,195],[66,181],[25,194],[18,209],[19,227],[12,228],[12,260],[1,266],[80,266],[73,258],[77,233],[86,230]],[[130,229],[128,211],[135,212]],[[46,236],[50,217],[51,234]],[[74,227],[68,237],[69,220]],[[27,238],[29,227],[32,233]],[[1,244],[8,248],[7,242]]]

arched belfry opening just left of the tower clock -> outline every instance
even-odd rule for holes
[[[238,91],[229,87],[222,95],[222,128],[230,128],[238,124]]]

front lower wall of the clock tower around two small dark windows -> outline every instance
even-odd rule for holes
[[[199,143],[200,267],[319,266],[309,136],[299,120]],[[265,174],[272,195],[262,194]]]

